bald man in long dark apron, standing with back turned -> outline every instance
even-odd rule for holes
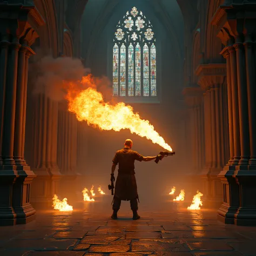
[[[118,150],[113,158],[113,164],[111,169],[111,181],[114,181],[114,170],[118,164],[118,176],[116,181],[116,187],[114,189],[113,198],[113,214],[112,219],[117,219],[117,212],[121,205],[121,200],[129,201],[131,204],[131,210],[133,212],[133,219],[139,219],[138,215],[138,192],[137,183],[134,172],[134,161],[152,161],[156,158],[162,159],[163,157],[158,155],[156,157],[143,157],[136,151],[131,150],[132,140],[126,139],[124,148]]]

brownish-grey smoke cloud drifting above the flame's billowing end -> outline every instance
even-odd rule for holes
[[[79,91],[87,87],[97,87],[106,100],[112,98],[111,82],[107,77],[92,77],[93,83],[80,83],[83,76],[91,72],[90,69],[84,68],[80,59],[45,56],[31,63],[29,70],[34,95],[43,93],[52,100],[60,101],[65,99],[68,86],[72,86]]]

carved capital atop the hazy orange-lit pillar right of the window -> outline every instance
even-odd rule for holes
[[[226,77],[226,64],[211,63],[199,65],[196,75],[198,77],[198,84],[203,90],[208,90],[215,85],[222,85]]]

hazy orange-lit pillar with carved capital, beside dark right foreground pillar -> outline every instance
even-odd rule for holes
[[[218,174],[224,167],[223,154],[227,146],[227,131],[223,119],[227,109],[225,95],[226,65],[201,64],[196,71],[198,84],[204,90],[204,129],[206,161],[201,172],[204,184],[204,198],[207,206],[219,206],[222,200],[222,185]]]

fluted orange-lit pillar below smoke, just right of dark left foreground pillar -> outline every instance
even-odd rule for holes
[[[33,98],[33,105],[32,151],[36,153],[32,170],[37,178],[31,186],[31,203],[35,208],[51,208],[61,175],[57,165],[58,103],[40,94]]]

